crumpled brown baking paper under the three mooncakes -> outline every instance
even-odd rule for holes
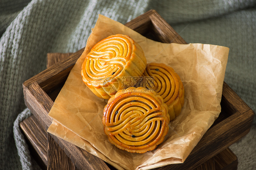
[[[144,154],[129,153],[111,144],[102,125],[107,100],[98,98],[80,74],[86,54],[101,39],[126,34],[144,50],[147,62],[165,63],[179,74],[185,88],[185,103],[169,123],[162,144]],[[117,169],[152,169],[183,163],[218,117],[229,48],[208,44],[166,44],[147,39],[132,29],[99,15],[85,51],[71,70],[49,116],[48,132],[98,156]]]

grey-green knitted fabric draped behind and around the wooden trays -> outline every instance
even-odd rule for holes
[[[2,0],[0,169],[38,168],[33,166],[18,126],[30,115],[22,83],[46,69],[47,53],[75,52],[84,47],[98,14],[126,23],[156,9],[187,42],[229,47],[225,82],[255,111],[255,4],[255,0]],[[238,169],[256,167],[255,130],[254,125],[245,138],[231,146],[238,154]]]

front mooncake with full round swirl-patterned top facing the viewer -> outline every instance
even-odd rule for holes
[[[168,107],[153,90],[119,90],[104,108],[102,123],[109,141],[128,152],[145,153],[163,142],[169,130]]]

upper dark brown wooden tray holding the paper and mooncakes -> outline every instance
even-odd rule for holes
[[[186,43],[154,10],[150,10],[135,18],[127,23],[126,26],[156,41]],[[64,85],[71,68],[83,50],[81,49],[71,54],[68,58],[50,66],[23,83],[25,104],[40,122],[44,130],[48,129],[52,121],[47,116],[48,112]],[[223,85],[221,108],[222,111],[218,119],[192,150],[184,163],[163,166],[158,169],[195,169],[241,139],[241,137],[250,131],[254,117],[252,109],[225,82]],[[54,135],[51,136],[78,169],[112,168],[85,150]],[[48,135],[48,141],[51,140],[49,138],[50,136]]]

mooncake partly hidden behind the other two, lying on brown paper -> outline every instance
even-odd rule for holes
[[[184,105],[184,86],[174,69],[163,63],[149,63],[143,73],[143,87],[155,90],[168,106],[170,120],[181,112]]]

